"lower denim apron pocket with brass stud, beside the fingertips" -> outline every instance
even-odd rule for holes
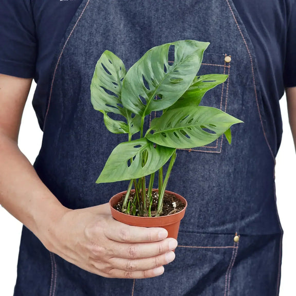
[[[140,291],[149,296],[228,295],[238,250],[234,236],[179,232],[175,260],[164,267],[163,275],[135,280],[133,296]]]

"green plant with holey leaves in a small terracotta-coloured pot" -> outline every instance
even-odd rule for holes
[[[205,93],[228,77],[196,76],[208,46],[208,42],[194,40],[156,46],[128,71],[114,53],[106,50],[101,55],[91,81],[91,102],[103,113],[110,132],[128,135],[128,141],[112,151],[96,181],[130,180],[127,191],[110,199],[115,219],[129,225],[163,227],[169,237],[177,238],[187,201],[166,190],[176,149],[204,146],[223,134],[231,143],[230,127],[242,121],[219,109],[199,106]],[[147,116],[159,110],[162,115],[144,131]],[[153,189],[156,174],[158,189]],[[165,205],[171,205],[165,211],[164,198],[170,200]]]

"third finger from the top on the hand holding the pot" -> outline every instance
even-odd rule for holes
[[[123,258],[110,258],[108,263],[116,269],[126,271],[140,271],[150,270],[156,267],[169,264],[174,261],[175,253],[170,251],[168,253],[144,259],[123,259]]]

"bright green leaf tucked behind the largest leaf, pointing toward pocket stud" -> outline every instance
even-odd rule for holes
[[[182,97],[170,108],[175,109],[186,106],[198,106],[201,99],[207,93],[208,90],[214,88],[215,86],[224,83],[228,75],[224,74],[208,74],[202,76],[196,76]]]

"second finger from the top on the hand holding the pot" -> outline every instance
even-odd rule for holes
[[[109,249],[110,257],[126,259],[142,259],[155,257],[176,249],[178,242],[175,238],[169,237],[155,243],[123,244],[114,242],[112,249]]]

